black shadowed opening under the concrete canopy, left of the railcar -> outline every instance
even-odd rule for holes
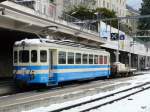
[[[0,78],[12,77],[13,44],[17,40],[21,40],[25,37],[32,37],[32,35],[0,28],[0,37]]]

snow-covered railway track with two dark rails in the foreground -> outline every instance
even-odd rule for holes
[[[55,109],[52,108],[49,110],[49,112],[87,112],[105,106],[107,104],[111,104],[115,101],[122,100],[147,89],[150,89],[150,82],[136,85],[117,92],[112,92],[110,94],[93,98],[87,101],[82,101],[80,103],[63,105],[62,107],[58,107]]]

